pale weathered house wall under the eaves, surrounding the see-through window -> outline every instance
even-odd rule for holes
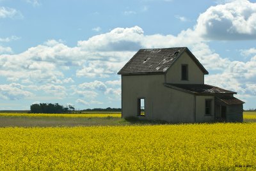
[[[194,96],[163,83],[164,75],[122,75],[122,117],[137,117],[137,99],[145,98],[145,116],[140,119],[193,122]]]

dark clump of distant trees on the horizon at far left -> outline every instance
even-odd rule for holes
[[[30,106],[29,113],[33,114],[63,114],[63,113],[70,113],[74,111],[75,108],[72,105],[68,105],[68,107],[63,107],[58,103],[39,103],[33,104]]]

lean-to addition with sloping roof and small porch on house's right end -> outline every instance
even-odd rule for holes
[[[236,92],[207,84],[164,84],[166,87],[194,94],[195,121],[243,122],[243,101],[234,97]],[[202,101],[204,100],[204,101]],[[209,103],[210,102],[210,103]],[[205,103],[204,110],[202,103]],[[207,109],[211,111],[207,112]]]

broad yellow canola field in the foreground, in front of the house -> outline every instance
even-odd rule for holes
[[[0,128],[0,170],[255,170],[256,124]]]

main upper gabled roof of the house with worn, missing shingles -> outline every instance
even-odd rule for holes
[[[181,56],[188,52],[189,56],[204,74],[208,74],[204,66],[196,59],[187,47],[140,49],[118,72],[120,75],[166,73],[168,68]]]

